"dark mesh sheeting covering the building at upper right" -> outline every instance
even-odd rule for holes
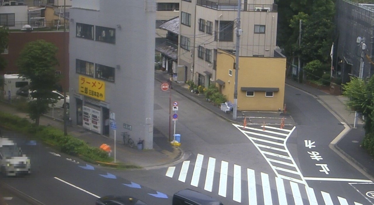
[[[367,49],[364,51],[369,56],[364,58],[363,77],[370,77],[374,73],[373,60],[374,43],[374,7],[370,4],[352,3],[347,0],[337,0],[335,23],[337,25],[337,58],[334,58],[334,67],[344,82],[349,81],[349,76],[359,76],[361,47],[356,42],[357,37],[365,37]],[[339,75],[337,75],[339,76]]]

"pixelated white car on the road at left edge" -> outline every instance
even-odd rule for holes
[[[4,145],[0,147],[0,171],[6,176],[30,174],[30,158],[15,144]]]

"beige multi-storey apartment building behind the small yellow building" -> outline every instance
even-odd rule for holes
[[[182,66],[174,72],[186,70],[185,80],[207,87],[216,79],[217,48],[235,52],[237,0],[181,0],[180,11]],[[240,12],[239,55],[273,57],[278,18],[274,0],[242,0]]]

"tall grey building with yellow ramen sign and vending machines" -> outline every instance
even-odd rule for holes
[[[153,148],[155,32],[149,31],[155,21],[154,0],[72,1],[73,124],[121,141],[128,132],[135,142],[144,140],[144,149]]]

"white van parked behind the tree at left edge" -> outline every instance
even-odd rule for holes
[[[19,74],[4,74],[4,98],[13,99],[16,97],[18,89],[28,85],[30,80],[19,76]]]

